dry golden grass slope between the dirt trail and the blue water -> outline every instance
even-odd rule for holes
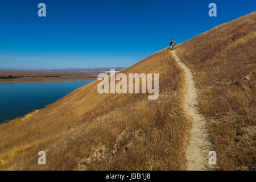
[[[191,123],[184,73],[168,49],[123,73],[159,73],[159,98],[99,94],[98,81],[0,125],[0,169],[181,170]],[[39,165],[39,151],[47,165]]]

